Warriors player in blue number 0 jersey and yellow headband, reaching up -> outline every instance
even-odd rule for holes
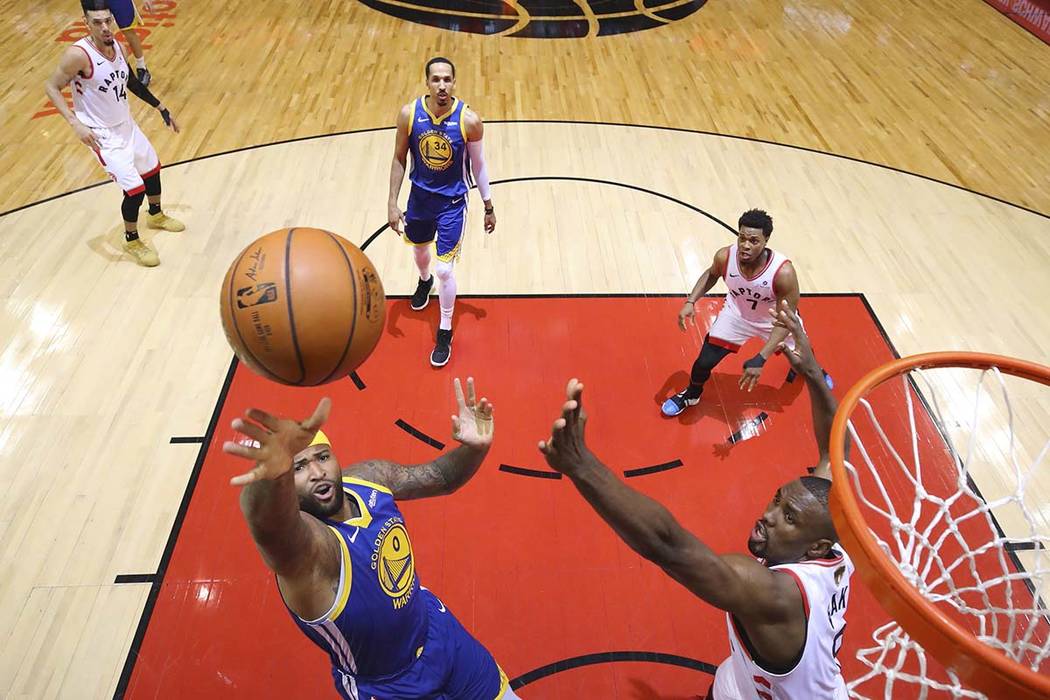
[[[321,426],[331,402],[296,422],[252,408],[247,436],[224,451],[254,461],[231,480],[295,623],[329,655],[344,700],[511,700],[507,677],[444,603],[420,584],[397,500],[452,493],[492,443],[492,405],[455,382],[460,443],[434,462],[373,460],[345,469]]]

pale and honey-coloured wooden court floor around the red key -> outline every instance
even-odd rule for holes
[[[147,56],[184,131],[135,113],[188,229],[153,238],[156,270],[121,256],[120,193],[68,127],[34,119],[70,4],[0,3],[0,697],[113,694],[150,590],[116,581],[156,571],[201,448],[171,438],[204,434],[229,366],[226,267],[285,226],[382,228],[390,127],[434,54],[486,120],[498,182],[461,293],[685,293],[758,206],[803,292],[862,293],[902,354],[1047,361],[1050,48],[980,0],[711,0],[549,40],[357,3],[162,3]],[[411,292],[388,231],[369,254]],[[1046,398],[1016,396],[1032,455]]]

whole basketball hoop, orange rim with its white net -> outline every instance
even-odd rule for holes
[[[967,404],[960,397],[970,378],[975,398]],[[895,685],[909,683],[920,697],[934,691],[957,698],[1050,698],[1044,602],[1050,516],[1045,491],[1033,496],[1050,484],[1046,473],[1044,482],[1033,481],[1050,461],[1050,441],[1036,429],[1034,448],[1020,444],[1007,390],[1008,383],[1020,384],[1027,398],[1035,388],[1029,381],[1050,385],[1050,367],[996,355],[930,353],[874,369],[839,406],[831,436],[832,515],[857,571],[896,620],[875,632],[874,648],[858,652],[867,672],[849,683],[852,697],[865,697],[861,684],[881,678],[887,698],[898,697]],[[948,402],[939,394],[948,394]],[[982,427],[987,437],[979,434]],[[847,430],[855,462],[846,461]],[[996,474],[991,481],[1002,493],[986,497],[979,490],[973,471],[982,459],[992,465],[986,473]],[[986,473],[978,479],[987,482]]]

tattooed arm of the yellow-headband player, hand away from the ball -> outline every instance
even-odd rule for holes
[[[459,413],[453,416],[453,439],[461,443],[459,447],[425,464],[371,460],[352,465],[343,473],[385,486],[397,500],[447,495],[470,481],[492,445],[496,422],[488,399],[477,400],[472,377],[466,380],[466,397],[460,380],[454,384]]]

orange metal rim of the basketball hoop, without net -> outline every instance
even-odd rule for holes
[[[969,687],[991,698],[1048,698],[1050,676],[1013,661],[963,629],[904,578],[897,564],[883,553],[868,530],[845,466],[845,436],[849,416],[860,400],[883,382],[911,369],[930,367],[999,367],[1000,372],[1050,385],[1050,367],[1035,362],[985,353],[926,353],[877,367],[846,394],[832,424],[832,517],[842,547],[875,597],[916,641]]]

